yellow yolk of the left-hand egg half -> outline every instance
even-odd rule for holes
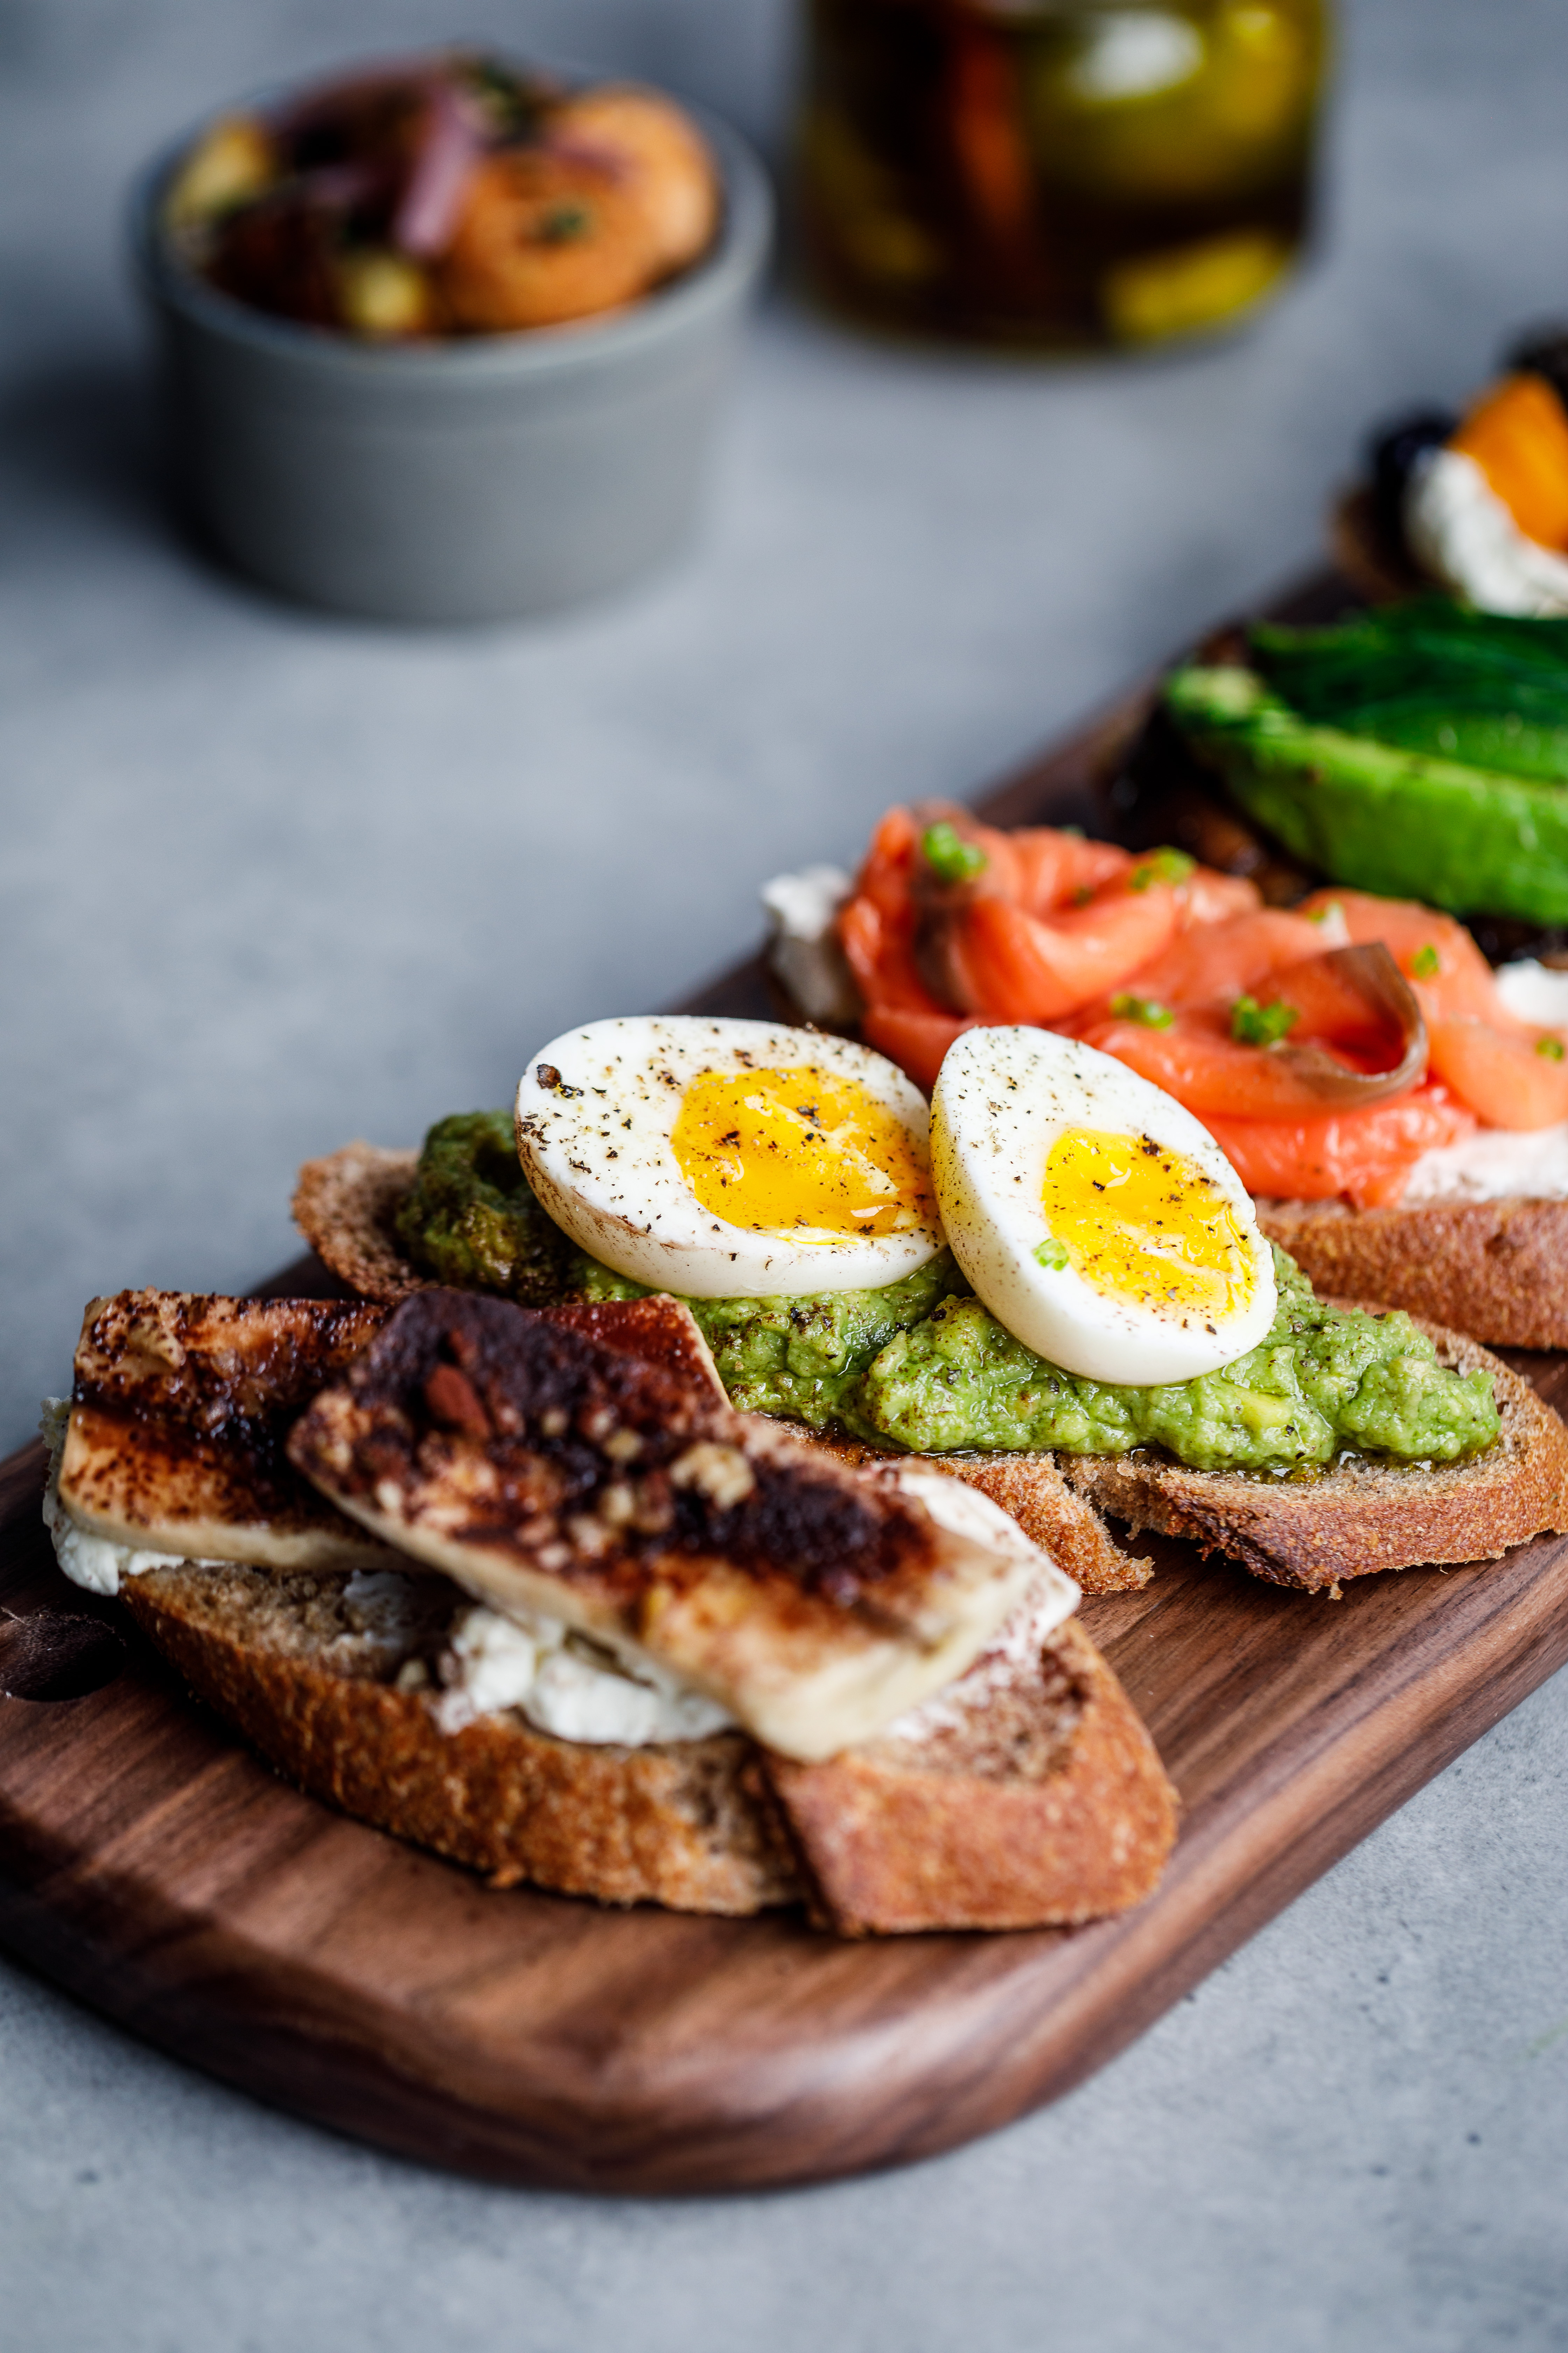
[[[703,1209],[750,1233],[842,1242],[936,1224],[926,1158],[903,1120],[811,1064],[705,1071],[670,1144]]]

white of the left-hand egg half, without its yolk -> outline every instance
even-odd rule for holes
[[[858,1080],[924,1158],[926,1099],[870,1047],[771,1021],[637,1014],[590,1021],[529,1056],[517,1087],[522,1172],[574,1242],[661,1292],[776,1299],[898,1282],[943,1247],[936,1212],[907,1233],[842,1242],[752,1233],[705,1209],[675,1160],[672,1129],[696,1078],[795,1064]]]

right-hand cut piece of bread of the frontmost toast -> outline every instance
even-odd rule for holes
[[[1150,1894],[1178,1814],[1154,1744],[1081,1626],[1060,1626],[1041,1664],[1070,1722],[1034,1760],[994,1755],[994,1779],[971,1751],[954,1791],[940,1748],[891,1737],[825,1765],[766,1758],[818,1925],[1077,1927]]]

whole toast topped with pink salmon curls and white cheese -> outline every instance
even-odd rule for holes
[[[1192,753],[1161,727],[1152,779],[1133,779],[1138,840],[1180,833],[1161,774]],[[1319,1289],[1493,1346],[1568,1346],[1561,1007],[1509,995],[1453,915],[1352,889],[1302,896],[1305,871],[1276,873],[1260,838],[1211,814],[1180,835],[1187,849],[1255,868],[1293,906],[1260,904],[1246,873],[1211,875],[1187,849],[999,833],[954,809],[931,828],[929,809],[891,809],[849,896],[818,915],[823,944],[849,953],[860,1035],[931,1085],[969,1026],[1060,1028],[1204,1120],[1265,1233]],[[929,871],[933,833],[938,861],[959,842],[966,880]],[[1375,948],[1380,976],[1347,953]],[[790,951],[799,965],[811,941]],[[1103,976],[1095,955],[1112,958]]]

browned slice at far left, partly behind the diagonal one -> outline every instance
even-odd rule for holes
[[[301,1407],[386,1318],[339,1299],[94,1299],[75,1351],[61,1506],[132,1553],[284,1572],[388,1567],[386,1546],[284,1452]]]

